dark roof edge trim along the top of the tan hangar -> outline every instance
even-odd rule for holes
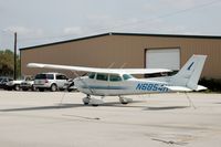
[[[145,34],[145,33],[117,33],[117,32],[109,32],[109,33],[103,33],[97,35],[91,35],[85,38],[78,38],[73,40],[66,40],[66,41],[60,41],[60,42],[53,42],[48,44],[41,44],[35,46],[28,46],[28,48],[21,48],[20,50],[30,50],[35,48],[42,48],[48,45],[55,45],[55,44],[62,44],[62,43],[69,43],[74,41],[81,41],[81,40],[87,40],[98,36],[105,36],[105,35],[136,35],[136,36],[159,36],[159,38],[186,38],[186,39],[221,39],[219,35],[186,35],[186,34]]]

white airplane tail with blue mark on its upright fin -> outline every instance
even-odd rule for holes
[[[190,90],[199,91],[198,82],[204,65],[207,55],[192,55],[185,66],[173,76],[171,84],[173,86],[185,86]]]

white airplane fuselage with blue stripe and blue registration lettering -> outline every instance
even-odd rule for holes
[[[148,81],[128,78],[122,81],[99,81],[84,76],[75,80],[75,86],[82,93],[97,96],[120,96],[137,95],[147,93],[166,93],[168,83],[159,81]]]

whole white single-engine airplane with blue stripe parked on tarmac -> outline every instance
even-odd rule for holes
[[[84,66],[66,66],[54,64],[29,63],[28,67],[44,67],[87,72],[88,75],[76,77],[74,84],[86,97],[85,105],[98,106],[105,96],[118,96],[122,104],[131,102],[124,95],[147,93],[190,92],[207,87],[198,85],[207,55],[192,55],[185,66],[172,76],[136,78],[131,74],[152,74],[171,72],[165,69],[96,69]],[[91,97],[102,96],[101,99]]]

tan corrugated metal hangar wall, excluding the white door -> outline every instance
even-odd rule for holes
[[[41,69],[27,63],[54,63],[95,67],[145,67],[147,49],[180,48],[181,66],[192,54],[207,54],[202,76],[221,78],[221,40],[143,35],[104,35],[67,43],[21,50],[21,72],[34,75]],[[52,70],[50,70],[52,71]],[[61,72],[61,71],[60,71]],[[63,72],[63,71],[62,71]],[[71,72],[65,72],[73,75]]]

